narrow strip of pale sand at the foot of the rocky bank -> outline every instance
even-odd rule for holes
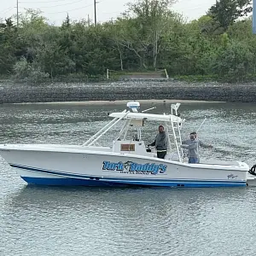
[[[140,102],[140,103],[226,103],[226,102],[209,102],[209,101],[198,101],[198,100],[117,100],[117,101],[83,101],[83,102],[20,102],[20,103],[3,103],[3,105],[120,105],[126,102]]]

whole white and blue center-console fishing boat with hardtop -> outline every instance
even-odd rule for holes
[[[108,113],[111,120],[81,145],[2,144],[0,154],[26,183],[38,185],[152,186],[152,187],[246,187],[256,175],[245,162],[201,161],[190,164],[181,148],[185,119],[180,103],[170,113],[148,113],[139,102],[127,102],[123,112]],[[143,141],[148,122],[165,127],[168,149],[165,159]],[[112,128],[119,132],[113,134]],[[111,145],[102,137],[114,135]]]

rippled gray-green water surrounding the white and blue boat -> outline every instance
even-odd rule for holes
[[[152,113],[169,104],[147,103]],[[0,143],[83,143],[124,105],[0,106]],[[256,105],[187,102],[183,137],[202,159],[255,163]],[[148,123],[151,143],[158,124]],[[116,130],[113,130],[112,135]],[[111,137],[108,137],[110,140]],[[103,141],[102,143],[109,143]],[[100,189],[27,186],[0,157],[0,255],[255,255],[256,189]]]

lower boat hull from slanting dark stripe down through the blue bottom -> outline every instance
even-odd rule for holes
[[[40,170],[27,166],[15,166],[19,169],[20,177],[26,183],[55,186],[93,186],[93,187],[186,187],[186,188],[213,188],[213,187],[245,187],[245,181],[199,180],[199,179],[153,179],[127,177],[94,177],[81,176],[49,170]]]

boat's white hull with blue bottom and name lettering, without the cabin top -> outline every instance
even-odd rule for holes
[[[0,145],[0,154],[26,183],[44,185],[245,187],[249,170],[65,145]]]

